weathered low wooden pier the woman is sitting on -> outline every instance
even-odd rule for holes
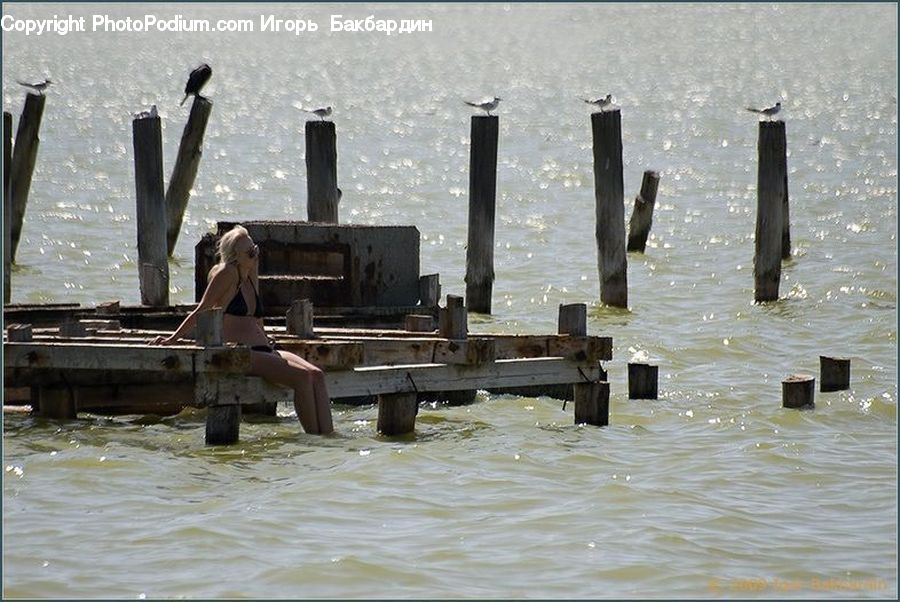
[[[437,331],[320,327],[317,338],[308,339],[280,327],[269,331],[279,348],[325,371],[337,403],[377,400],[385,435],[414,429],[420,396],[526,386],[539,393],[542,386],[573,385],[576,416],[606,424],[608,388],[604,399],[596,385],[605,378],[600,362],[612,357],[609,337],[464,333],[466,338],[449,339]],[[232,443],[242,408],[274,412],[274,403],[289,400],[289,390],[249,375],[247,347],[150,346],[158,334],[101,318],[43,327],[7,324],[7,403],[29,403],[48,418],[208,407],[207,442]],[[230,424],[222,427],[223,420]]]

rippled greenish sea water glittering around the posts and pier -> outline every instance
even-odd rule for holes
[[[69,11],[72,11],[71,13]],[[464,292],[468,123],[500,105],[497,281],[482,332],[546,333],[588,302],[613,337],[608,428],[572,405],[479,393],[415,436],[287,407],[203,445],[204,416],[5,416],[9,597],[896,597],[895,5],[4,5],[17,18],[261,15],[315,34],[3,36],[3,105],[49,76],[14,302],[137,303],[131,114],[163,117],[171,172],[184,78],[215,105],[171,264],[217,220],[304,219],[298,107],[331,104],[346,223],[414,224],[423,273]],[[433,31],[330,33],[329,17]],[[590,108],[622,110],[625,189],[661,173],[628,311],[600,306]],[[752,304],[756,118],[781,100],[793,257]],[[780,408],[781,379],[852,358],[852,388]],[[626,364],[660,366],[627,399]]]

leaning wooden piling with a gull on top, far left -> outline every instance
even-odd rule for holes
[[[43,94],[28,94],[25,97],[25,108],[19,118],[16,130],[15,146],[10,161],[9,194],[12,202],[12,224],[10,232],[10,259],[15,262],[22,234],[22,223],[25,221],[25,206],[28,204],[28,191],[31,189],[31,176],[37,162],[37,151],[40,145],[38,133],[41,129],[41,118],[44,116]]]

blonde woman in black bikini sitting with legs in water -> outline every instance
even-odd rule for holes
[[[151,344],[174,344],[194,328],[200,312],[224,307],[223,338],[250,347],[250,374],[294,390],[294,408],[307,433],[333,432],[331,399],[322,371],[293,353],[273,349],[263,330],[259,247],[246,228],[235,226],[219,240],[217,251],[219,263],[209,272],[209,284],[197,308],[172,336],[157,337]]]

